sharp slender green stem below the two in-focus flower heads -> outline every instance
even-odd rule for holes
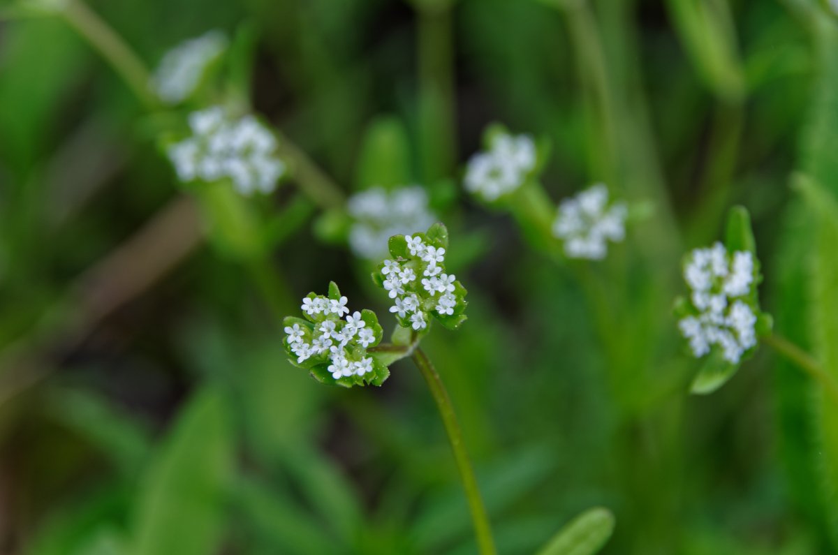
[[[468,508],[471,510],[474,525],[474,535],[477,537],[480,553],[481,555],[494,555],[496,551],[492,538],[492,527],[489,524],[489,515],[486,513],[477,479],[474,477],[474,470],[468,460],[468,453],[463,443],[463,434],[460,432],[460,425],[457,422],[457,415],[454,414],[451,398],[448,397],[445,386],[442,385],[442,380],[431,364],[431,360],[427,358],[422,349],[417,347],[413,351],[413,361],[422,371],[422,376],[425,377],[427,386],[431,389],[433,400],[437,402],[439,415],[442,417],[442,423],[445,425],[445,431],[448,434],[448,443],[451,443],[451,450],[460,471],[460,479],[463,480],[463,489],[466,491]]]

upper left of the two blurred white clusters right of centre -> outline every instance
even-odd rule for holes
[[[488,152],[474,154],[468,160],[465,188],[492,202],[518,189],[534,168],[532,137],[501,133],[493,138]]]

